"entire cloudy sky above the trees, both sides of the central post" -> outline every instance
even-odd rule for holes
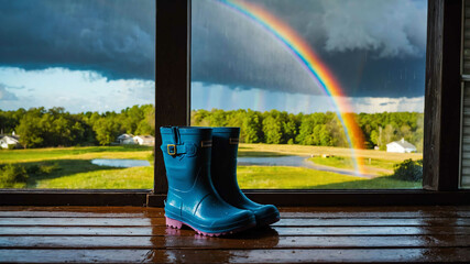
[[[423,111],[426,0],[256,0],[320,56],[357,112]],[[0,0],[0,109],[153,103],[153,0]],[[335,110],[255,22],[193,1],[192,108]]]

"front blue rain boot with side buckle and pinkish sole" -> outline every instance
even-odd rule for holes
[[[162,127],[162,152],[168,179],[166,224],[190,227],[219,237],[256,224],[249,210],[230,206],[217,194],[210,178],[211,129]]]

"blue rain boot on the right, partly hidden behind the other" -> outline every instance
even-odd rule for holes
[[[256,217],[258,226],[280,220],[280,211],[272,205],[260,205],[250,200],[240,190],[237,182],[237,153],[240,128],[212,128],[212,165],[210,168],[214,186],[223,200],[248,209]]]

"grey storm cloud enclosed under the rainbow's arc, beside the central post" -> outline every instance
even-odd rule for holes
[[[310,77],[284,46],[216,1],[193,2],[192,30],[194,81],[240,89],[311,90]]]

